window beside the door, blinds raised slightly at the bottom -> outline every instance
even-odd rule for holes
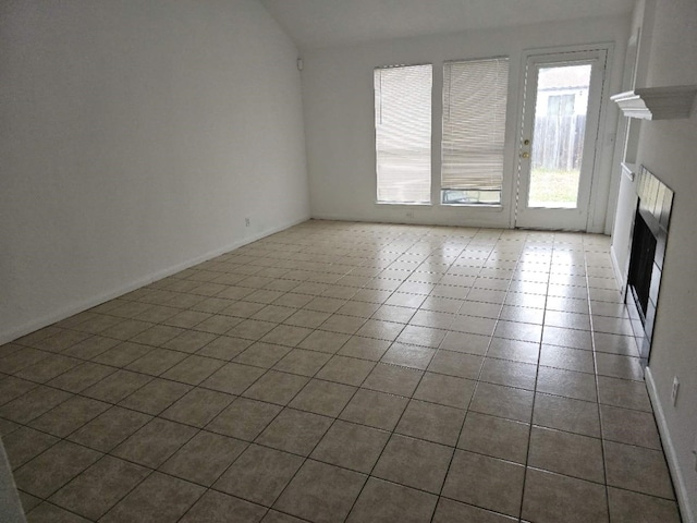
[[[442,204],[501,204],[509,60],[443,68]]]

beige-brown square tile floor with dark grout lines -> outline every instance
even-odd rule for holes
[[[2,345],[28,521],[678,522],[608,248],[309,221]]]

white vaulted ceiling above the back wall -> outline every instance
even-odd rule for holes
[[[260,0],[301,50],[626,14],[635,0]]]

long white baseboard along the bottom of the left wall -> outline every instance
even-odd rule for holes
[[[262,238],[269,236],[271,234],[276,234],[277,232],[281,232],[293,226],[297,226],[298,223],[303,223],[308,219],[309,217],[302,218],[302,219],[293,220],[291,222],[286,222],[279,227],[266,229],[264,231],[257,232],[249,236],[245,236],[244,239],[235,241],[231,244],[210,251],[206,254],[201,254],[194,258],[187,259],[186,262],[182,262],[180,264],[167,267],[166,269],[158,270],[156,272],[147,275],[146,277],[139,278],[137,280],[130,281],[123,285],[120,285],[102,294],[91,296],[87,300],[83,300],[80,302],[73,302],[66,305],[65,307],[61,307],[60,309],[53,311],[52,313],[44,315],[39,318],[32,319],[30,321],[27,321],[21,326],[17,326],[7,332],[0,332],[0,344],[8,343],[12,340],[16,340],[17,338],[21,338],[25,335],[34,332],[35,330],[52,325],[56,321],[70,318],[71,316],[77,313],[82,313],[83,311],[87,311],[88,308],[96,307],[97,305],[108,302],[109,300],[113,300],[114,297],[119,297],[131,291],[140,289],[142,287],[152,283],[154,281],[161,280],[162,278],[167,278],[168,276],[175,275],[176,272],[180,272],[184,269],[188,269],[189,267],[198,265],[203,262],[212,259],[216,256],[220,256],[221,254],[229,253],[230,251],[234,251],[235,248],[240,248],[244,245],[256,242],[257,240],[261,240]]]

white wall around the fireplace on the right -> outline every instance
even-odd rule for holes
[[[697,3],[647,1],[651,38],[644,85],[697,84]],[[641,59],[640,59],[641,60]],[[697,109],[692,118],[641,124],[637,162],[675,192],[648,385],[685,521],[697,521]],[[633,209],[632,209],[633,211]],[[676,406],[673,376],[680,378]]]

